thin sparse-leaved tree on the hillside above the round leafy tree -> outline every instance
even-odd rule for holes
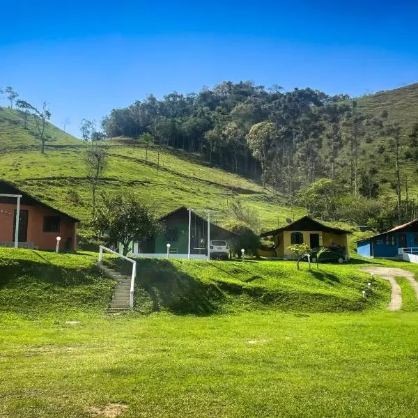
[[[107,146],[101,142],[92,142],[90,149],[84,154],[84,164],[86,166],[86,178],[91,185],[92,196],[92,215],[95,217],[96,191],[100,177],[108,167],[109,151]]]

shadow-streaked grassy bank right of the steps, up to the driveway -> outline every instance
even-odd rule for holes
[[[130,266],[115,261],[129,274]],[[127,264],[127,263],[126,263]],[[350,265],[301,264],[289,261],[184,261],[141,259],[137,262],[137,309],[180,314],[246,309],[283,311],[360,311],[387,304],[388,285],[377,281],[366,299],[369,274]]]

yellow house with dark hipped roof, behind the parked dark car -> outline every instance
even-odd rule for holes
[[[292,244],[307,244],[316,247],[341,247],[347,258],[350,258],[348,247],[348,234],[350,231],[332,228],[321,224],[309,216],[301,217],[291,224],[264,232],[261,238],[270,238],[274,242],[271,249],[259,249],[258,255],[262,257],[287,258],[291,256],[287,247]]]

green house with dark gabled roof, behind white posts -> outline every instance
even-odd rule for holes
[[[160,218],[162,231],[132,245],[132,256],[170,256],[174,258],[206,258],[208,254],[208,229],[210,240],[229,240],[234,234],[221,226],[208,222],[191,209],[182,206]],[[189,230],[190,226],[190,230]],[[209,226],[209,228],[208,228]],[[190,231],[190,252],[189,252]]]

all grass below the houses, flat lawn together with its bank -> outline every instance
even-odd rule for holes
[[[148,278],[160,303],[203,291],[223,306],[146,315],[108,314],[113,281],[94,263],[0,249],[0,417],[101,417],[114,403],[121,418],[417,416],[417,303],[402,279],[402,311],[385,311],[378,278],[362,300],[367,261],[320,276],[306,263],[142,261],[139,286],[160,272]],[[315,297],[300,309],[298,293]]]

